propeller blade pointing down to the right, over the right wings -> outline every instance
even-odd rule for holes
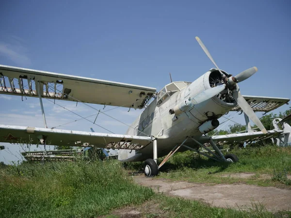
[[[253,111],[253,109],[249,106],[249,104],[246,102],[246,100],[242,97],[241,93],[239,93],[237,90],[233,90],[232,93],[234,99],[238,103],[238,105],[241,107],[242,111],[259,127],[259,129],[264,133],[267,134],[267,130],[260,122],[259,118]]]

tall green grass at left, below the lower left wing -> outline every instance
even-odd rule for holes
[[[0,217],[96,217],[154,193],[116,160],[22,163],[0,170]]]

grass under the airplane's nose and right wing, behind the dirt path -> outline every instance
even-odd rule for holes
[[[160,169],[157,178],[182,180],[206,184],[243,182],[259,186],[290,186],[290,180],[272,179],[274,172],[291,174],[291,147],[248,147],[233,149],[229,153],[239,157],[237,163],[217,162],[191,151],[177,153]],[[162,158],[159,159],[159,162]],[[141,163],[132,163],[130,170],[140,170]],[[226,176],[232,173],[252,172],[248,178]],[[224,176],[222,176],[224,175]],[[284,180],[284,181],[283,181]]]

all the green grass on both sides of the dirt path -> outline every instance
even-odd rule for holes
[[[164,166],[158,178],[210,184],[230,183],[235,179],[217,175],[255,171],[254,181],[259,181],[260,173],[274,174],[273,180],[269,179],[271,185],[288,181],[285,175],[291,170],[291,148],[268,146],[234,150],[231,153],[238,155],[240,162],[229,165],[193,156],[190,152],[176,154]],[[140,165],[133,164],[130,167],[139,170]],[[203,202],[154,193],[148,187],[135,185],[132,176],[116,160],[22,163],[0,169],[1,218],[120,217],[123,215],[115,216],[114,211],[128,207],[144,211],[142,216],[148,218],[291,217],[290,212],[272,214],[261,205],[254,204],[248,211],[242,211],[210,207]]]

